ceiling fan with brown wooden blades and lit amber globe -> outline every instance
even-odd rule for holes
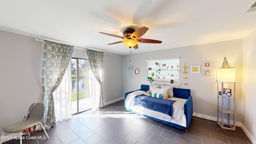
[[[148,31],[148,28],[143,26],[141,28],[138,28],[138,30],[134,30],[133,28],[127,28],[124,30],[123,35],[124,36],[117,36],[114,34],[107,34],[104,32],[100,32],[100,34],[106,34],[108,36],[114,36],[116,38],[122,38],[122,41],[119,42],[113,42],[111,44],[118,44],[123,42],[124,45],[128,46],[129,48],[138,48],[138,42],[142,43],[162,43],[160,40],[150,40],[150,39],[145,39],[145,38],[140,38],[143,34],[145,34]],[[110,45],[110,44],[108,44]]]

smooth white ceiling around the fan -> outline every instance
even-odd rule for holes
[[[132,53],[241,39],[256,30],[254,0],[2,0],[0,30],[46,38],[115,54],[129,54],[127,26],[146,26]]]

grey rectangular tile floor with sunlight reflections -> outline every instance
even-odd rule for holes
[[[252,144],[240,127],[224,130],[214,121],[193,117],[185,132],[126,112],[123,106],[120,100],[97,112],[82,112],[46,130],[50,139],[36,131],[32,136],[41,139],[25,139],[23,144]],[[4,144],[19,144],[19,140]]]

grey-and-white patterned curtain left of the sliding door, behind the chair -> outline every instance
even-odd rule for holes
[[[56,124],[53,92],[58,88],[70,62],[74,46],[44,41],[44,60],[42,68],[43,99],[46,115],[42,121],[44,128]]]

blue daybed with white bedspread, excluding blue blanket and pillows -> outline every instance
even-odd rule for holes
[[[139,95],[147,95],[146,92],[149,91],[149,89],[149,85],[142,84],[139,90],[125,93],[124,109],[187,131],[193,114],[193,102],[192,96],[190,95],[190,90],[172,88],[173,97],[168,98],[168,100],[174,100],[175,102],[173,103],[172,116],[170,116],[168,114],[148,109],[143,106],[134,105],[135,98],[137,98]]]

